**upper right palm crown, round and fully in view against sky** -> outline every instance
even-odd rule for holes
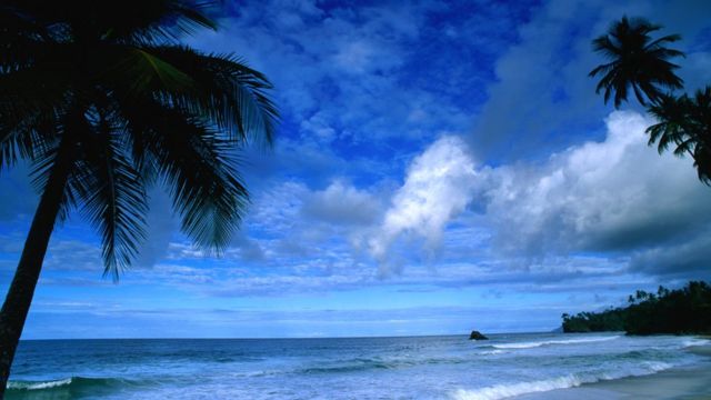
[[[644,19],[622,17],[610,27],[607,34],[592,41],[594,51],[611,60],[598,66],[589,74],[593,78],[601,76],[595,92],[604,90],[605,103],[614,92],[614,107],[619,108],[623,100],[627,101],[630,88],[642,106],[647,106],[645,97],[652,103],[657,102],[663,93],[662,89],[682,88],[683,80],[674,73],[679,66],[669,60],[684,54],[664,47],[681,37],[669,34],[652,40],[649,34],[661,28]]]

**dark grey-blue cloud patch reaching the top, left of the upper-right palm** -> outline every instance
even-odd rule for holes
[[[575,124],[580,114],[602,116],[585,70],[593,64],[589,38],[595,19],[589,8],[582,1],[550,1],[519,28],[520,43],[497,61],[498,80],[477,119],[471,140],[478,157],[510,162],[548,154],[581,133],[558,129]]]

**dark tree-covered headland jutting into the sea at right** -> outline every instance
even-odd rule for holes
[[[629,334],[711,333],[711,286],[691,281],[681,289],[638,290],[627,307],[600,312],[564,313],[563,332],[625,331]]]

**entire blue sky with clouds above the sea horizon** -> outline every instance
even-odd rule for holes
[[[186,38],[276,86],[274,149],[244,150],[252,204],[222,258],[151,194],[118,284],[97,236],[59,227],[24,338],[334,337],[551,330],[635,289],[709,279],[711,201],[689,159],[613,111],[590,41],[622,14],[683,36],[711,83],[702,1],[230,3]],[[37,204],[0,174],[0,289]]]

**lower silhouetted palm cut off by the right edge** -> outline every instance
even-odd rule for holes
[[[661,154],[674,144],[674,154],[689,153],[694,160],[699,179],[711,186],[711,87],[698,90],[695,96],[662,96],[649,108],[658,123],[649,127],[649,144],[659,140]]]

